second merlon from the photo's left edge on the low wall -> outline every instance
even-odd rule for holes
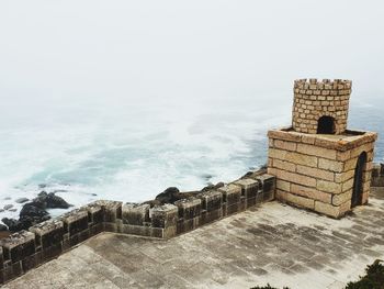
[[[30,232],[35,234],[36,246],[42,246],[44,249],[61,243],[64,223],[59,220],[48,220],[31,226]]]

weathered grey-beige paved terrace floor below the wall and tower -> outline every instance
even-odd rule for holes
[[[103,233],[4,288],[338,289],[384,259],[383,213],[375,190],[342,220],[269,202],[169,241]]]

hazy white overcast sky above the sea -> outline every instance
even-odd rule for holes
[[[383,93],[382,0],[0,2],[0,102]]]

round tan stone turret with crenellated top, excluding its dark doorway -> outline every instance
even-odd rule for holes
[[[294,82],[292,126],[296,132],[316,134],[321,116],[335,120],[335,134],[347,129],[352,81],[335,79],[298,79]]]

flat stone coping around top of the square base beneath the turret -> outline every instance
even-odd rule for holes
[[[346,152],[377,140],[377,133],[374,132],[347,130],[343,134],[307,134],[296,132],[292,126],[270,130],[268,136],[287,142],[313,144],[340,152]]]

